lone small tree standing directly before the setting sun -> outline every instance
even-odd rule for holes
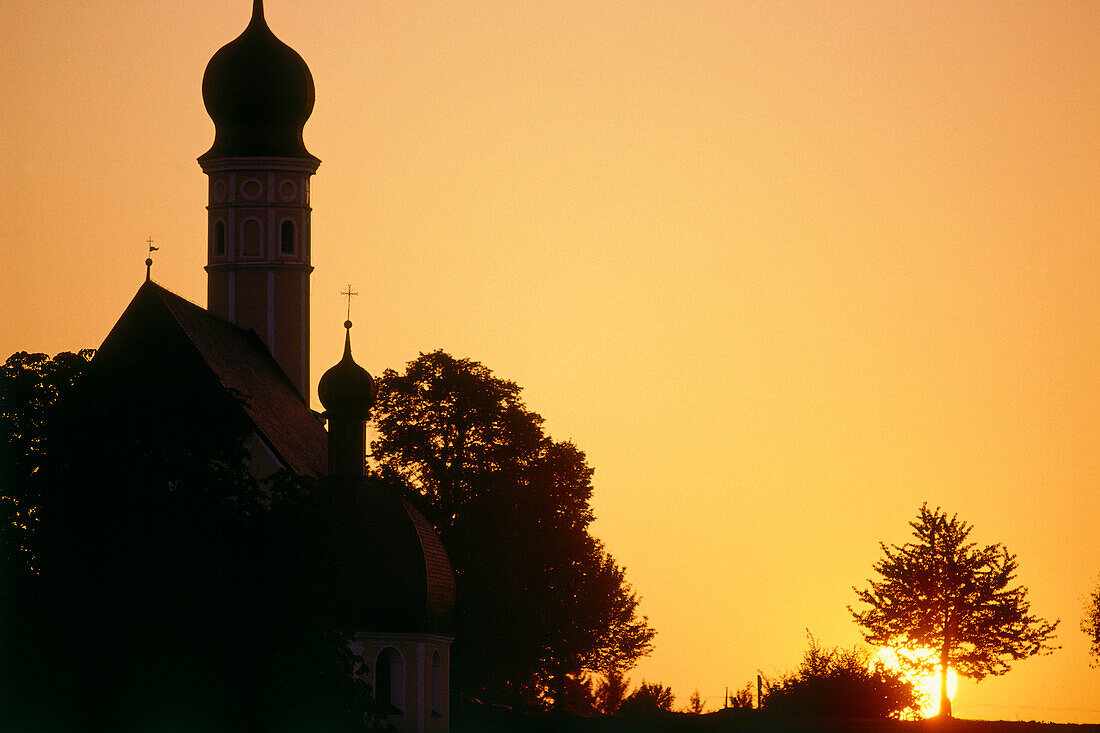
[[[1010,660],[1057,648],[1049,642],[1058,621],[1031,615],[1027,589],[1011,584],[1016,557],[1000,544],[967,541],[971,526],[957,515],[924,504],[910,526],[916,541],[880,544],[881,580],[853,589],[870,608],[848,610],[870,644],[936,652],[939,714],[949,718],[949,668],[977,680],[1003,675]]]

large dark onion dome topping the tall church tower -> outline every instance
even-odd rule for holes
[[[207,65],[202,101],[216,133],[200,161],[314,157],[301,140],[314,111],[314,77],[301,56],[267,28],[263,0],[253,0],[248,28]]]

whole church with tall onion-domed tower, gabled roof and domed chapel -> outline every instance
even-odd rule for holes
[[[306,150],[302,128],[314,95],[308,66],[272,33],[262,0],[254,0],[244,32],[215,54],[202,79],[216,127],[198,158],[209,177],[207,308],[146,272],[64,405],[56,445],[72,456],[121,455],[146,444],[170,451],[205,446],[232,428],[255,479],[278,471],[308,478],[330,522],[327,551],[349,589],[337,631],[352,638],[360,674],[398,731],[447,731],[453,571],[424,515],[364,477],[376,387],[352,358],[350,320],[343,358],[319,383],[324,413],[309,408],[309,182],[320,161]],[[69,466],[59,475],[76,484],[86,468]],[[120,483],[154,469],[131,460]],[[105,495],[96,511],[122,503]],[[69,502],[63,526],[79,526],[76,507],[89,505],[86,495]],[[162,572],[168,575],[151,570]],[[116,611],[124,612],[99,613]],[[95,635],[94,622],[78,626]],[[106,657],[121,642],[88,644]]]

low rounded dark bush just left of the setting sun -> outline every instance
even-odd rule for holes
[[[899,672],[872,664],[866,649],[826,648],[810,637],[798,671],[769,681],[763,708],[798,718],[901,718],[920,710],[913,683]]]

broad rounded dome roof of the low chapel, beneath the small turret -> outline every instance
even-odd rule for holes
[[[369,479],[332,475],[316,492],[331,521],[338,614],[354,631],[448,633],[454,571],[435,527]]]

